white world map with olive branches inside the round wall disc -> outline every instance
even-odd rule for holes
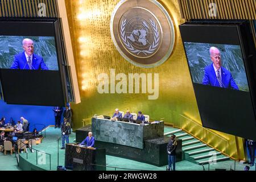
[[[144,54],[144,56],[154,53],[160,43],[160,35],[158,26],[154,20],[146,20],[135,17],[135,22],[123,19],[120,27],[121,38],[124,46],[130,52],[136,55]],[[127,22],[130,26],[126,26]]]

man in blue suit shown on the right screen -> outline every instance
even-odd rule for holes
[[[221,66],[221,53],[216,47],[210,48],[210,59],[213,63],[204,68],[203,84],[239,90],[231,73]]]

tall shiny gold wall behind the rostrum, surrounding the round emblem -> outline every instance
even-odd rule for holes
[[[174,126],[181,127],[195,137],[205,140],[204,132],[200,132],[203,129],[178,26],[184,23],[183,17],[207,17],[207,12],[199,9],[194,9],[192,12],[188,7],[188,5],[197,8],[206,6],[207,1],[159,1],[174,22],[175,47],[164,64],[148,69],[130,64],[123,59],[113,44],[110,35],[110,17],[118,2],[118,0],[65,0],[81,96],[80,104],[72,104],[74,129],[82,126],[82,120],[90,124],[94,114],[112,115],[114,109],[119,108],[122,111],[129,109],[134,113],[142,110],[144,114],[150,115],[151,120],[164,119],[166,123],[173,123]],[[229,2],[225,1],[225,3]],[[182,7],[181,12],[180,7]],[[232,16],[230,10],[222,13],[223,17],[226,15]],[[116,74],[126,75],[159,73],[158,100],[148,100],[148,94],[99,94],[97,76],[101,73],[110,75],[110,69],[115,69]],[[180,114],[187,115],[193,122],[189,122]],[[226,152],[233,158],[244,158],[241,138],[217,131],[212,133],[210,140],[207,140],[210,146]],[[225,138],[228,142],[220,143],[220,138]]]

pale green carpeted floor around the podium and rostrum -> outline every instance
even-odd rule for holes
[[[177,129],[173,129],[171,127],[165,127],[165,133],[174,131]],[[57,138],[60,137],[60,129],[54,129],[54,127],[49,127],[46,131],[46,138],[43,139],[43,143],[35,146],[34,148],[36,150],[45,151],[48,154],[51,154],[51,170],[55,171],[57,167]],[[69,142],[73,142],[73,139],[75,139],[75,134],[73,133],[69,137]],[[59,142],[59,148],[61,147],[61,139]],[[65,150],[59,150],[60,151],[60,160],[59,165],[64,166],[64,160],[65,160]],[[26,159],[26,153],[20,154],[23,158]],[[4,160],[6,162],[3,162]],[[31,153],[28,152],[28,159],[30,163],[36,164],[36,152]],[[8,162],[7,162],[8,161]],[[126,170],[121,168],[129,168],[129,169],[138,169],[138,170],[148,170],[148,171],[165,171],[166,166],[163,167],[156,167],[152,166],[150,164],[137,162],[134,160],[124,159],[124,158],[117,158],[114,156],[107,155],[106,156],[106,165],[108,171],[114,171],[115,167],[117,171],[120,170]],[[246,165],[236,163],[236,170],[242,171],[243,168]],[[38,167],[49,170],[49,157],[46,158],[46,164],[38,164]],[[204,165],[205,170],[208,170],[208,164]],[[221,169],[227,169],[230,170],[230,167],[234,169],[234,161],[228,160],[224,162],[217,162],[216,164],[210,164],[209,169],[215,170],[216,168]],[[0,170],[7,169],[7,170],[18,170],[18,167],[16,167],[16,159],[13,156],[3,156],[0,154]],[[182,162],[176,163],[176,170],[177,171],[203,171],[203,167],[199,164],[195,164],[192,162],[189,162],[187,160],[183,160]],[[254,168],[252,169],[254,170]]]

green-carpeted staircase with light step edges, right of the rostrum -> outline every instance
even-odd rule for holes
[[[182,140],[183,160],[202,165],[230,159],[182,130],[164,127],[164,135],[171,134]]]

